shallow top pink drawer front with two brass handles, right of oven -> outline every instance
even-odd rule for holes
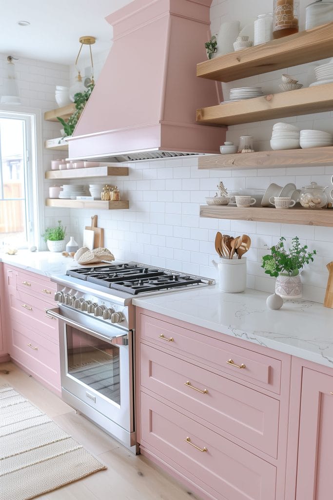
[[[259,387],[280,393],[281,361],[194,330],[140,314],[140,338]]]

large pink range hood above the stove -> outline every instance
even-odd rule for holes
[[[221,101],[196,77],[212,0],[134,0],[106,19],[113,45],[69,139],[69,157],[130,161],[218,153],[225,130],[196,123]]]

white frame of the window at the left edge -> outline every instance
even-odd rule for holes
[[[13,105],[1,105],[0,117],[23,119],[30,130],[29,133],[26,133],[27,168],[24,179],[26,196],[29,196],[27,247],[33,245],[37,249],[43,248],[40,236],[44,232],[41,110],[23,106],[16,108]]]

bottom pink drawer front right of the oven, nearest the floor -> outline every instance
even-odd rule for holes
[[[213,497],[275,500],[270,463],[143,392],[141,413],[141,446],[156,450]]]

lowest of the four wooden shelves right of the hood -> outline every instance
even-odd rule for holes
[[[258,222],[280,222],[284,224],[307,224],[333,226],[333,209],[289,208],[278,210],[274,207],[242,208],[230,205],[202,205],[200,217],[228,220],[256,220]]]

